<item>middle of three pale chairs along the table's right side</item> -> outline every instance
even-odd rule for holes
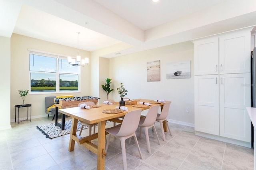
[[[141,130],[142,128],[144,129],[145,132],[145,136],[146,136],[146,141],[147,141],[147,146],[148,146],[148,153],[151,153],[151,148],[150,148],[150,142],[149,142],[149,135],[148,135],[148,129],[150,127],[154,128],[154,131],[156,132],[156,127],[154,125],[155,121],[156,121],[156,116],[158,114],[158,108],[159,105],[154,105],[152,107],[150,107],[150,109],[148,110],[148,113],[146,115],[146,117],[141,117],[140,118],[140,122],[139,122],[139,127],[140,127],[140,136],[141,136]],[[158,144],[160,144],[157,132],[156,132],[156,138],[158,140]]]

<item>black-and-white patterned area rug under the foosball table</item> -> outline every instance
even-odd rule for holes
[[[59,121],[61,123],[61,121]],[[40,125],[37,126],[36,128],[42,132],[46,136],[46,138],[56,138],[58,136],[62,136],[65,134],[69,134],[72,126],[72,119],[69,119],[65,121],[65,129],[61,130],[60,127],[55,126],[55,123],[50,123],[47,125]],[[77,130],[80,130],[82,127],[82,123],[78,121],[77,123]],[[88,126],[84,126],[83,129],[88,128]]]

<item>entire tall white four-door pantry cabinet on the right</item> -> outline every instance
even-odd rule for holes
[[[250,42],[250,28],[194,41],[196,134],[250,147]]]

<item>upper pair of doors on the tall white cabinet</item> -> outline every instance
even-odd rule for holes
[[[194,41],[195,75],[250,73],[250,30]]]

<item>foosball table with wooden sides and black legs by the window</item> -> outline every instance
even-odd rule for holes
[[[58,97],[54,99],[55,104],[55,126],[60,127],[62,130],[65,129],[65,115],[61,115],[61,124],[58,123],[58,109],[66,109],[70,107],[78,107],[78,104],[85,101],[92,101],[98,104],[98,97],[84,96],[84,97]]]

